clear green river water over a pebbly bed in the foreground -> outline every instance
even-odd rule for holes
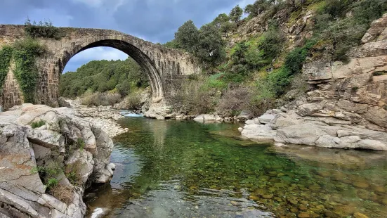
[[[125,118],[88,217],[387,217],[387,153],[275,147],[238,124]],[[98,216],[94,216],[98,217]]]

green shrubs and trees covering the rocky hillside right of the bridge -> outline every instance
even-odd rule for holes
[[[301,77],[306,61],[348,62],[348,51],[386,11],[383,0],[258,0],[243,10],[235,6],[199,29],[188,20],[164,46],[192,53],[204,72],[185,84],[173,109],[259,115],[290,89],[308,89]],[[255,34],[246,31],[251,25]]]

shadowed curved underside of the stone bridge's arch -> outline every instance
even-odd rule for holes
[[[70,60],[70,58],[72,58],[72,56],[75,56],[77,53],[81,51],[85,51],[86,49],[91,49],[99,46],[118,49],[119,51],[122,51],[126,53],[128,56],[130,56],[131,58],[133,58],[133,60],[135,60],[138,63],[138,65],[140,65],[140,67],[144,69],[145,73],[149,77],[150,86],[152,89],[152,98],[153,98],[152,100],[153,101],[162,100],[162,98],[164,97],[162,79],[159,75],[157,68],[155,68],[154,63],[152,63],[152,60],[150,60],[150,58],[145,53],[143,53],[143,51],[138,49],[136,46],[129,44],[126,41],[121,41],[117,39],[105,39],[105,40],[96,41],[80,49],[77,49],[79,51],[72,51],[72,53],[74,52],[74,55],[71,55],[68,58],[65,57],[65,59],[67,60],[63,60],[63,61],[67,63],[67,61]]]

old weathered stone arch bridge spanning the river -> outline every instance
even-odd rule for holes
[[[24,25],[0,25],[0,48],[25,37]],[[168,105],[181,81],[200,72],[189,53],[152,44],[114,30],[60,27],[64,37],[59,40],[39,38],[47,53],[37,60],[39,80],[37,102],[57,105],[60,75],[67,62],[77,53],[98,46],[108,46],[128,54],[145,70],[152,88],[152,104]],[[23,103],[23,96],[12,67],[2,86],[0,105],[11,108]]]

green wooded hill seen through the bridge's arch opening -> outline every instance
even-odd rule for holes
[[[148,77],[132,58],[126,60],[93,60],[76,72],[66,72],[60,77],[59,94],[74,98],[89,92],[116,90],[126,96],[138,87],[148,86]]]

